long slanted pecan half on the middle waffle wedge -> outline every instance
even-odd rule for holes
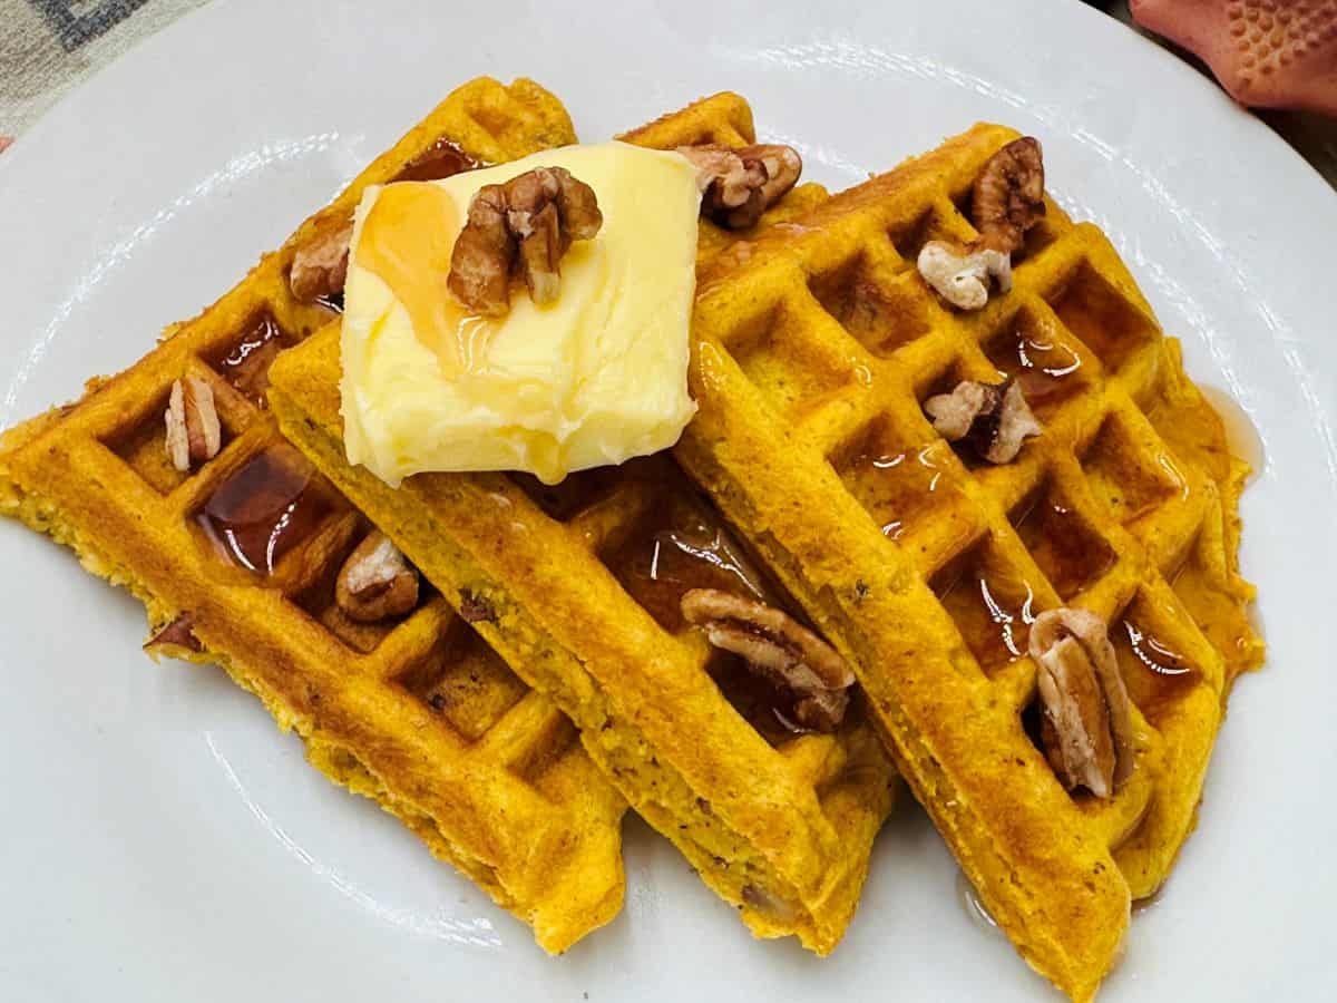
[[[845,717],[854,674],[836,649],[792,617],[718,588],[687,591],[682,615],[705,630],[711,645],[742,655],[753,670],[792,693],[798,723],[833,732]]]

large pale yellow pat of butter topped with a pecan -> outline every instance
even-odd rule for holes
[[[447,292],[469,201],[533,167],[594,189],[603,226],[562,258],[556,302],[523,285],[501,318]],[[437,182],[366,190],[344,289],[349,463],[389,484],[424,471],[528,471],[545,483],[678,441],[701,195],[686,158],[572,146]]]

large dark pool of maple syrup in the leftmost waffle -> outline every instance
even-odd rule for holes
[[[309,536],[329,506],[308,491],[310,467],[295,453],[269,449],[218,485],[195,516],[233,563],[262,575]]]

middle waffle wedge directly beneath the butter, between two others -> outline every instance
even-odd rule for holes
[[[717,95],[623,139],[746,146],[751,112]],[[796,189],[761,229],[824,197]],[[733,239],[703,223],[701,254]],[[834,733],[801,734],[775,694],[683,622],[694,587],[783,598],[667,455],[554,488],[503,473],[390,488],[345,460],[337,324],[275,364],[270,403],[283,433],[552,695],[634,808],[757,935],[836,945],[894,773],[857,706]]]

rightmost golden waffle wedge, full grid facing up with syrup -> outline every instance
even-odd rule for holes
[[[1103,234],[1051,202],[1012,293],[975,314],[917,274],[927,239],[977,235],[961,206],[1013,138],[977,126],[717,259],[677,456],[856,666],[1017,950],[1088,999],[1262,646],[1235,564],[1246,469]],[[1044,433],[980,467],[923,401],[997,373],[1023,374]],[[1064,604],[1108,621],[1136,705],[1136,769],[1107,801],[1068,794],[1028,734],[1028,627]]]

